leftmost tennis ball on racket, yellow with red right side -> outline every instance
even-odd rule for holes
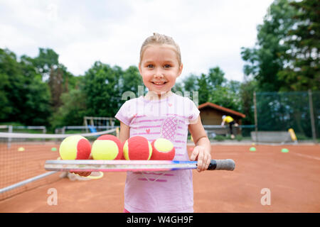
[[[70,135],[60,143],[62,160],[85,160],[90,157],[91,144],[82,135]]]

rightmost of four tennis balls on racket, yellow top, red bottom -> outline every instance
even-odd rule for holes
[[[176,150],[170,140],[158,138],[151,143],[152,155],[151,160],[174,160]]]

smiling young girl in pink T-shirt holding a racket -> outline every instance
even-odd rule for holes
[[[116,114],[119,138],[141,135],[151,143],[171,140],[174,160],[189,160],[188,130],[196,144],[190,160],[198,160],[198,172],[210,163],[210,141],[197,106],[187,97],[171,92],[182,72],[180,48],[166,35],[146,38],[140,51],[139,72],[149,92],[126,101]],[[124,189],[125,212],[193,212],[192,170],[170,172],[127,172]]]

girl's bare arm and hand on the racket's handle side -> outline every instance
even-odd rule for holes
[[[190,160],[198,160],[198,172],[207,170],[211,160],[211,145],[201,123],[200,116],[196,120],[196,123],[189,124],[188,129],[193,138],[193,143],[196,145]]]

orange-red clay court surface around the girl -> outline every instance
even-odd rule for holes
[[[212,158],[235,160],[235,170],[193,170],[195,212],[319,212],[319,145],[213,145]],[[289,149],[282,153],[281,149]],[[0,212],[123,212],[125,172],[102,179],[60,179],[0,201]],[[48,189],[58,204],[48,205]],[[270,189],[270,205],[262,205]]]

